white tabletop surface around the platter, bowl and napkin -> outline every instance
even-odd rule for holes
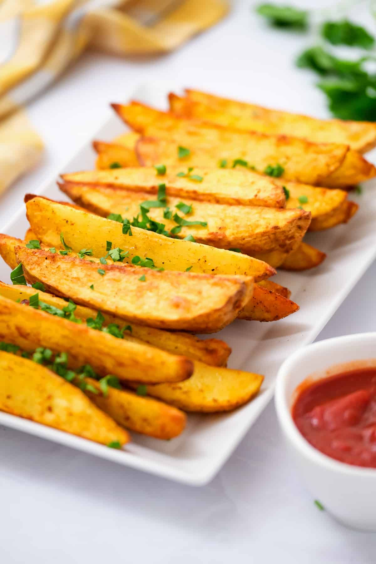
[[[375,31],[374,20],[368,22]],[[171,55],[83,56],[30,104],[30,117],[46,142],[45,160],[2,197],[0,225],[20,207],[25,192],[37,191],[61,171],[109,114],[108,103],[125,100],[141,82],[174,78],[202,90],[327,116],[324,97],[312,86],[315,77],[292,62],[308,44],[306,36],[269,30],[244,1],[235,3],[223,23]],[[374,264],[319,339],[374,330],[375,276]],[[370,492],[375,494],[376,488]],[[347,530],[313,504],[285,450],[273,404],[202,488],[0,428],[2,564],[229,560],[376,561],[376,535]]]

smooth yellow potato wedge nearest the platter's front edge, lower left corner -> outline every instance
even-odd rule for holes
[[[125,429],[41,364],[0,351],[0,373],[1,411],[96,443],[129,442]]]

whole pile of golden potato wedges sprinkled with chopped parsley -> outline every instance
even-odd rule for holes
[[[74,203],[27,195],[29,231],[0,235],[2,411],[121,448],[245,404],[263,376],[196,334],[297,311],[271,276],[319,266],[304,235],[347,223],[349,189],[376,175],[375,124],[195,90],[169,104],[113,104],[129,130],[61,175]]]

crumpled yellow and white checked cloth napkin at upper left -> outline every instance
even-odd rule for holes
[[[171,51],[227,11],[226,0],[0,0],[0,47],[10,50],[0,58],[0,193],[43,151],[22,108],[83,50]]]

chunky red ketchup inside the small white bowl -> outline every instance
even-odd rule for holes
[[[376,468],[376,368],[299,386],[291,415],[303,437],[325,455]]]

